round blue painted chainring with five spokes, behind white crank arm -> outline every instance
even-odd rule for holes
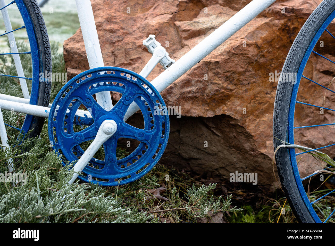
[[[112,109],[104,109],[94,99],[94,94],[102,91],[122,96]],[[142,112],[144,129],[124,121],[133,102]],[[84,106],[91,116],[89,113],[76,115]],[[95,138],[102,122],[114,120],[118,128],[100,148],[103,154],[95,155],[78,178],[104,186],[126,184],[148,173],[162,156],[170,131],[169,116],[164,108],[158,91],[139,74],[117,67],[91,69],[71,79],[57,94],[50,109],[50,143],[62,157],[63,165],[77,161],[84,153],[83,146]],[[117,159],[120,138],[137,140],[139,145],[128,156]]]

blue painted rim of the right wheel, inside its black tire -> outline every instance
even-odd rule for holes
[[[335,11],[326,19],[326,21],[323,23],[323,25],[320,27],[320,29],[317,31],[315,37],[313,38],[310,46],[308,47],[305,56],[302,60],[302,63],[300,64],[299,70],[296,75],[296,84],[293,85],[293,90],[292,90],[292,96],[291,96],[291,101],[290,101],[290,107],[289,107],[289,116],[288,116],[288,139],[287,142],[290,144],[294,144],[294,111],[295,111],[295,104],[296,104],[296,97],[298,93],[298,88],[300,84],[300,80],[303,76],[303,72],[305,69],[305,66],[309,60],[309,57],[318,42],[319,38],[323,34],[323,32],[326,30],[327,26],[330,24],[330,22],[335,18]],[[302,179],[299,174],[297,162],[296,162],[296,155],[295,155],[295,149],[294,148],[288,148],[290,158],[291,158],[291,165],[293,168],[293,173],[295,177],[295,181],[297,183],[300,195],[302,196],[302,199],[304,200],[306,207],[308,211],[310,212],[312,218],[314,219],[315,222],[317,223],[322,223],[321,219],[315,212],[307,194],[304,188],[304,185],[302,183]]]

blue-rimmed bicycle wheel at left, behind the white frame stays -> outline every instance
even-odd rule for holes
[[[29,104],[48,107],[51,52],[40,7],[36,0],[15,0],[9,3],[0,0],[0,4],[5,29],[0,35],[0,38],[3,38],[0,44],[9,42],[10,47],[9,51],[2,47],[4,52],[0,54],[3,65],[0,72],[1,93],[29,99]],[[17,37],[21,42],[16,42]],[[21,61],[24,62],[23,65]],[[12,66],[7,66],[7,63],[11,63]],[[17,91],[17,88],[20,88],[20,91]],[[23,133],[29,133],[28,137],[39,136],[44,120],[43,117],[25,115],[19,129]],[[13,128],[17,129],[17,126]]]

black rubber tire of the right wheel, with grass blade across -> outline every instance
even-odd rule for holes
[[[286,57],[282,73],[297,73],[317,31],[335,10],[335,1],[324,0],[307,19],[295,38]],[[293,85],[280,78],[278,82],[276,99],[273,111],[273,140],[274,149],[287,140],[288,114],[292,96]],[[310,214],[295,182],[290,155],[285,148],[280,148],[276,153],[278,175],[290,207],[301,223],[315,223]]]

